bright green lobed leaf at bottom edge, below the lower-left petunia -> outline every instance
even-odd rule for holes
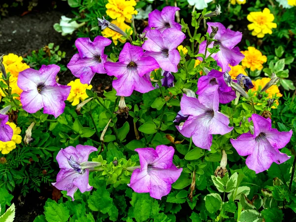
[[[45,218],[48,222],[67,222],[70,218],[68,208],[63,204],[57,204],[55,201],[47,202],[45,206]]]

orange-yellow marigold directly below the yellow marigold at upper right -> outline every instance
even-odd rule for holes
[[[263,63],[267,62],[267,57],[262,55],[262,53],[255,47],[248,47],[248,50],[241,51],[245,55],[245,58],[242,60],[242,65],[244,67],[250,68],[251,71],[262,70]]]

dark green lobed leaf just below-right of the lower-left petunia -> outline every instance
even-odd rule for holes
[[[97,189],[93,191],[93,193],[87,200],[88,207],[92,211],[100,211],[103,214],[106,214],[113,206],[112,198],[110,197],[110,193],[106,189],[105,180],[98,180],[96,182],[96,185]]]

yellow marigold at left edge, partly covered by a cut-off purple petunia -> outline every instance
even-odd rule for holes
[[[22,132],[20,127],[17,127],[13,122],[7,122],[6,124],[12,128],[13,136],[11,141],[0,141],[0,151],[2,154],[9,153],[12,149],[16,148],[16,144],[20,144],[22,142],[22,137],[19,135]]]

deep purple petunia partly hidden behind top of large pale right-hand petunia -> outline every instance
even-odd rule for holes
[[[211,70],[209,74],[200,76],[197,82],[198,90],[196,94],[203,96],[202,93],[213,85],[219,86],[218,94],[220,103],[226,104],[236,98],[235,91],[224,81],[223,73],[217,70]]]

